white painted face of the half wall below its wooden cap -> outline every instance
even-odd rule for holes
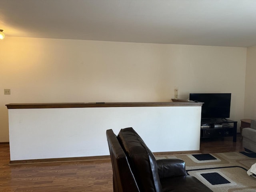
[[[9,109],[10,160],[109,155],[133,127],[152,152],[200,149],[201,106]]]

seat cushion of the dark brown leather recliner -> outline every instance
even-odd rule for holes
[[[160,179],[163,192],[212,192],[193,176],[177,176]]]

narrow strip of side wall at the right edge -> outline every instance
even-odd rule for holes
[[[256,119],[256,46],[247,48],[244,118]]]

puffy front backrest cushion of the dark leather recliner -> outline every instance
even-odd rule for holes
[[[121,129],[117,136],[130,163],[140,191],[162,192],[156,158],[133,128]]]

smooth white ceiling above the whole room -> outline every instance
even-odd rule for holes
[[[6,36],[248,47],[256,0],[0,0]]]

